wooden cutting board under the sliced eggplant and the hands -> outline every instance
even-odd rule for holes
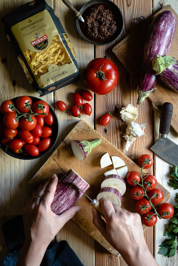
[[[72,140],[94,140],[100,138],[101,144],[93,148],[90,155],[83,161],[79,161],[73,154],[71,149]],[[76,171],[86,182],[89,183],[90,187],[86,191],[86,194],[91,198],[96,198],[97,194],[101,189],[102,179],[104,173],[113,168],[113,165],[101,169],[100,159],[106,152],[110,156],[119,156],[128,166],[128,171],[141,172],[141,168],[130,160],[124,153],[114,147],[108,140],[103,138],[97,131],[90,127],[83,120],[80,120],[76,126],[66,136],[64,141],[58,146],[53,152],[49,159],[43,164],[39,171],[30,180],[29,185],[35,190],[40,184],[44,184],[53,173],[56,173],[58,178],[63,176],[63,173],[69,171],[72,168]],[[157,183],[157,188],[160,188],[164,193],[163,202],[168,202],[170,199],[170,193],[161,184]],[[123,201],[121,207],[128,211],[134,212],[135,200],[130,197],[129,194],[130,186],[126,184],[126,192],[123,195]],[[81,227],[87,234],[97,240],[103,247],[105,247],[113,255],[118,255],[118,252],[110,246],[105,240],[101,233],[96,229],[92,223],[92,205],[87,197],[82,196],[78,201],[77,205],[80,205],[82,209],[74,215],[72,221]],[[135,211],[136,212],[136,211]],[[158,221],[159,222],[159,221]],[[147,227],[143,225],[143,230]],[[119,254],[120,255],[120,254]]]

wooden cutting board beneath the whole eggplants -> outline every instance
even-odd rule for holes
[[[138,25],[138,29],[136,31],[128,35],[112,50],[136,82],[138,82],[139,80],[142,51],[147,35],[147,30],[155,16],[160,12],[163,12],[164,10],[171,10],[177,18],[176,33],[169,55],[178,59],[178,15],[170,5],[165,6],[150,19],[145,20],[143,25]],[[155,87],[157,89],[153,91],[148,96],[148,98],[155,104],[155,106],[159,110],[161,110],[161,106],[164,102],[171,102],[173,104],[171,126],[178,133],[178,93],[169,88],[169,86],[161,81],[161,79],[159,79]]]

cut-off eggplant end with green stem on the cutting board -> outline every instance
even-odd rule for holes
[[[101,139],[92,141],[87,140],[72,140],[71,147],[74,155],[79,161],[83,161],[91,152],[91,150],[101,144]]]

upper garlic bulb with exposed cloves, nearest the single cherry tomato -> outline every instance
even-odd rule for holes
[[[123,107],[120,111],[121,118],[124,121],[132,122],[135,121],[138,116],[137,108],[134,107],[132,104],[128,104],[126,107]]]

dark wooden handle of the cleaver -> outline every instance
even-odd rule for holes
[[[161,134],[169,134],[172,113],[173,113],[172,103],[170,102],[163,103],[161,108],[161,118],[160,118],[160,128],[159,128],[159,132]]]

